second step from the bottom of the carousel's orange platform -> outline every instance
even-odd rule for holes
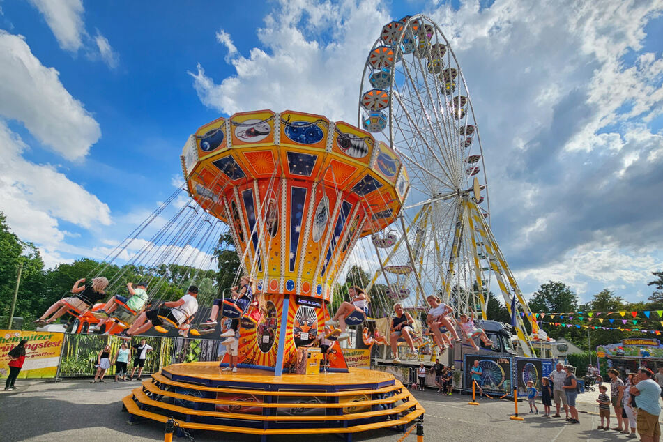
[[[321,420],[359,420],[359,419],[365,419],[365,418],[374,418],[376,416],[388,416],[388,415],[393,415],[393,414],[399,414],[402,413],[403,411],[409,410],[409,409],[415,409],[418,402],[410,397],[408,399],[408,402],[405,402],[404,404],[401,404],[399,406],[394,406],[393,408],[386,409],[386,410],[379,410],[379,411],[365,411],[365,412],[360,412],[360,413],[351,413],[351,414],[342,414],[342,415],[303,415],[303,416],[280,416],[280,415],[272,415],[272,416],[264,416],[262,414],[250,414],[250,413],[233,413],[233,412],[226,412],[226,411],[206,411],[206,410],[194,410],[194,409],[189,409],[185,406],[178,406],[178,405],[173,405],[173,404],[168,404],[167,402],[162,402],[158,401],[155,399],[151,399],[146,395],[140,388],[135,388],[135,390],[132,391],[134,398],[140,402],[140,404],[146,405],[146,406],[153,406],[158,409],[163,409],[165,410],[166,414],[168,414],[168,411],[174,411],[176,413],[182,413],[185,415],[188,414],[194,414],[196,416],[211,416],[213,418],[227,418],[227,419],[244,419],[244,420],[259,420],[261,422],[264,421],[278,421],[278,422],[307,422],[307,421],[321,421]],[[190,398],[190,396],[189,396]],[[228,401],[225,401],[228,402]],[[240,402],[243,406],[246,406],[246,402]],[[257,404],[252,404],[256,405]],[[288,408],[293,408],[293,406],[296,406],[297,408],[304,408],[302,405],[319,405],[319,404],[280,404],[281,406],[287,406]],[[346,404],[345,406],[365,406],[367,405],[365,402],[351,402]],[[319,408],[319,407],[318,407]],[[345,407],[338,407],[338,408],[345,408]]]

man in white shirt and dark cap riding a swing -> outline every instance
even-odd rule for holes
[[[119,333],[117,336],[123,340],[130,340],[132,335],[140,335],[154,326],[162,326],[162,318],[177,324],[177,326],[190,322],[193,315],[198,311],[197,296],[198,287],[192,285],[189,287],[187,294],[179,300],[167,301],[163,303],[163,307],[141,313],[129,330]]]

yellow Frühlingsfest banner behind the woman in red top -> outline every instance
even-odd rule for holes
[[[18,345],[25,344],[25,361],[19,378],[52,378],[58,369],[64,333],[32,332],[22,330],[0,330],[0,377],[9,374],[7,353]]]

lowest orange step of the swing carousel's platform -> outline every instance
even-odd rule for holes
[[[134,402],[131,396],[126,396],[122,399],[125,409],[132,415],[141,416],[149,420],[157,422],[167,422],[168,417],[140,409]],[[382,422],[374,422],[369,424],[353,425],[349,427],[328,427],[328,428],[275,428],[275,429],[259,429],[247,427],[235,427],[230,425],[211,425],[200,424],[195,422],[185,422],[183,420],[175,419],[180,427],[186,429],[201,429],[215,432],[228,432],[228,433],[241,433],[241,434],[258,434],[258,435],[277,435],[277,434],[340,434],[340,433],[358,433],[365,432],[372,429],[381,429],[388,427],[399,427],[401,425],[409,425],[413,420],[422,416],[425,410],[420,404],[416,404],[416,409],[410,413],[402,416],[402,418],[395,420],[385,420]]]

